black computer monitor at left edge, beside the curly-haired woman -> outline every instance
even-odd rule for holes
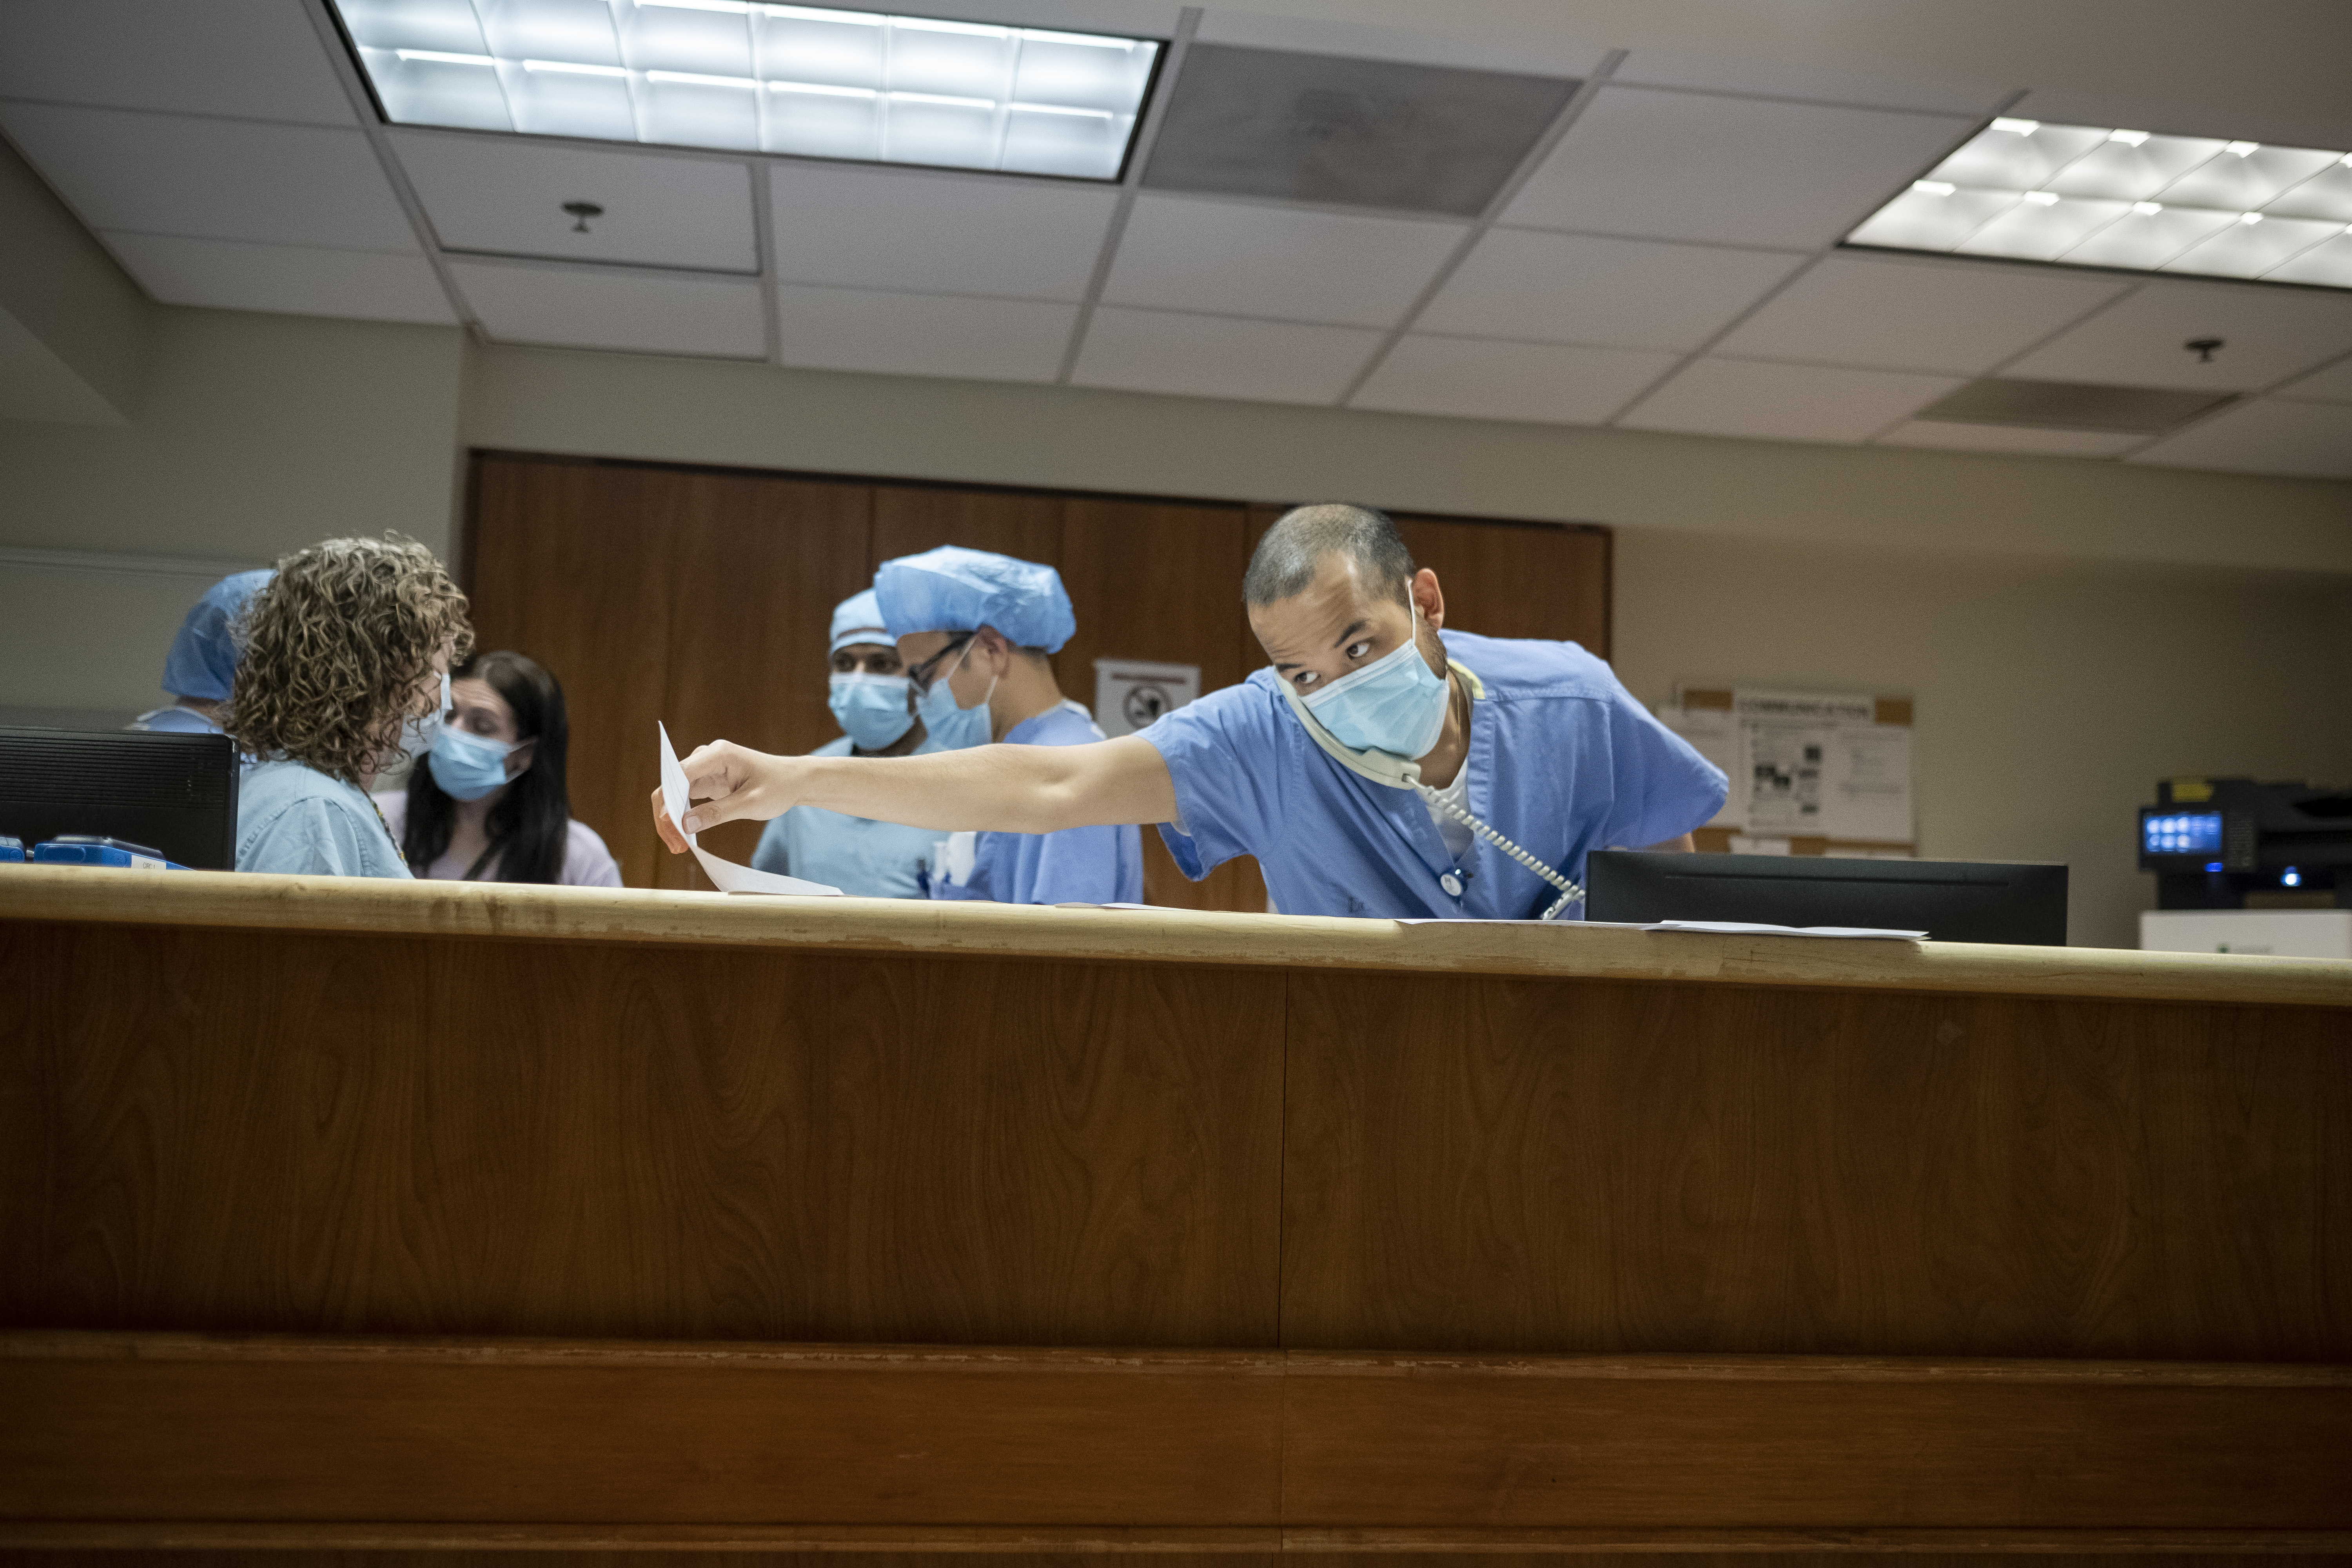
[[[198,872],[238,870],[238,750],[228,736],[0,726],[0,835],[87,832]]]

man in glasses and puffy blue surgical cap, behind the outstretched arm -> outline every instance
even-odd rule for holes
[[[882,562],[875,599],[938,750],[1103,738],[1094,715],[1063,698],[1047,663],[1077,630],[1051,567],[941,545]],[[957,832],[931,865],[929,891],[995,903],[1141,903],[1143,835],[1131,823]]]

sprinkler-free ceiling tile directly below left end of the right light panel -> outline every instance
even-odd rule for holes
[[[2009,266],[1828,256],[1717,343],[1755,360],[1978,376],[2124,289]]]

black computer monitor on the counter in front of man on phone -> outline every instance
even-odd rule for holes
[[[1597,849],[1585,856],[1585,919],[1877,926],[2065,947],[2065,867]]]

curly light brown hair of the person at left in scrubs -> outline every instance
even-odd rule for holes
[[[327,538],[278,562],[238,616],[242,661],[221,724],[252,757],[289,757],[346,783],[400,750],[433,654],[473,651],[466,595],[414,538]]]

